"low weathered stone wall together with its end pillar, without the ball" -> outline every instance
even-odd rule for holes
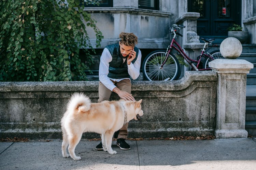
[[[129,122],[128,137],[215,135],[247,137],[246,73],[253,64],[217,59],[213,71],[186,71],[177,81],[132,81],[143,99],[142,120]],[[0,82],[0,138],[61,138],[60,119],[73,92],[98,99],[98,81]],[[113,94],[111,100],[118,100]],[[84,133],[83,138],[99,138]]]

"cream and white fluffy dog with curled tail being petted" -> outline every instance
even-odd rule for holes
[[[141,102],[142,99],[140,101],[119,100],[91,103],[83,93],[74,93],[61,119],[62,156],[69,157],[70,154],[74,160],[81,159],[75,155],[75,147],[83,132],[101,134],[103,150],[116,154],[111,147],[113,134],[130,120],[137,120],[137,114],[143,115]]]

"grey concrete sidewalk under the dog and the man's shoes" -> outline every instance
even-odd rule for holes
[[[256,138],[213,140],[127,140],[111,155],[96,151],[99,141],[82,139],[76,147],[81,160],[63,158],[61,139],[0,142],[0,169],[256,169]]]

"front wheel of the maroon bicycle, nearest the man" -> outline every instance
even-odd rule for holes
[[[169,54],[165,65],[160,65],[165,60],[165,51],[156,50],[146,56],[142,64],[144,77],[149,81],[176,80],[179,78],[179,61],[173,54]]]

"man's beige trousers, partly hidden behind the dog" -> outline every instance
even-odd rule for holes
[[[131,81],[130,81],[130,79],[124,79],[124,80],[121,80],[120,82],[116,82],[116,81],[112,81],[112,82],[120,90],[126,91],[129,94],[131,94]],[[104,101],[104,100],[110,100],[111,93],[112,93],[112,91],[110,89],[106,88],[100,82],[99,83],[99,99],[98,99],[98,102],[101,102],[101,101]],[[126,139],[127,138],[127,135],[128,135],[127,128],[128,128],[128,123],[123,125],[123,127],[119,130],[117,139],[119,139],[119,138]]]

